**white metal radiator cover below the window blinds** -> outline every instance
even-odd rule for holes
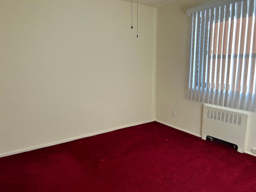
[[[238,152],[244,152],[249,114],[242,110],[205,104],[202,139],[206,140],[207,136],[218,138],[236,144]]]

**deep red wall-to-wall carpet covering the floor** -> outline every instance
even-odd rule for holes
[[[256,157],[157,122],[0,158],[1,192],[255,192]]]

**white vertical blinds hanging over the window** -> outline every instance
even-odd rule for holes
[[[256,0],[190,14],[188,100],[256,112]]]

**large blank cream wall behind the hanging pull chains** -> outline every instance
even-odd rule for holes
[[[156,8],[139,13],[136,38],[129,2],[0,1],[0,156],[155,119]]]

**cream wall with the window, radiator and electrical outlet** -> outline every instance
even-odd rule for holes
[[[188,22],[186,9],[206,0],[176,0],[157,10],[156,120],[196,136],[202,133],[202,103],[185,99]],[[172,116],[176,110],[176,116]],[[256,113],[249,126],[247,153],[256,148]]]

